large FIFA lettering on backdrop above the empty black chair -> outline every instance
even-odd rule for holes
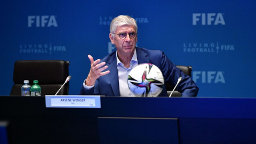
[[[58,27],[57,21],[54,15],[42,15],[42,16],[35,16],[29,15],[28,16],[28,27]]]

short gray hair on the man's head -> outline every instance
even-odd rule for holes
[[[137,33],[137,22],[129,15],[119,15],[118,17],[114,18],[110,24],[110,33],[115,33],[117,27],[123,25],[133,25]]]

